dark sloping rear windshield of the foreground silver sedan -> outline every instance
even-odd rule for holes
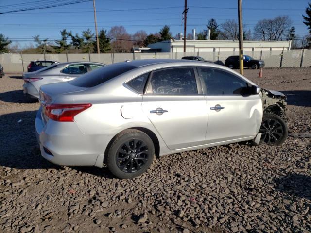
[[[79,87],[93,87],[135,68],[137,67],[130,66],[126,63],[116,63],[93,70],[92,72],[86,73],[72,81],[69,81],[69,83]]]

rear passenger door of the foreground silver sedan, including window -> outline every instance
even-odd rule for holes
[[[207,106],[193,67],[173,67],[151,73],[142,110],[169,149],[204,144]]]

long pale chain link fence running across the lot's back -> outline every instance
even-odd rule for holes
[[[264,60],[265,67],[310,67],[311,50],[244,51],[254,59]],[[104,64],[139,59],[181,59],[184,56],[200,56],[208,61],[225,64],[229,56],[239,55],[238,51],[216,52],[148,52],[148,53],[65,53],[65,54],[0,54],[0,64],[5,72],[26,72],[27,66],[35,60],[54,60],[58,62],[92,61]]]

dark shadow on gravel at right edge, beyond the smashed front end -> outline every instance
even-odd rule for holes
[[[287,104],[311,107],[311,91],[282,91],[287,96]]]

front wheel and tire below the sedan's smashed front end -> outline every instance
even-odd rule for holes
[[[259,133],[262,133],[260,144],[279,146],[287,138],[288,128],[280,116],[264,113]]]

